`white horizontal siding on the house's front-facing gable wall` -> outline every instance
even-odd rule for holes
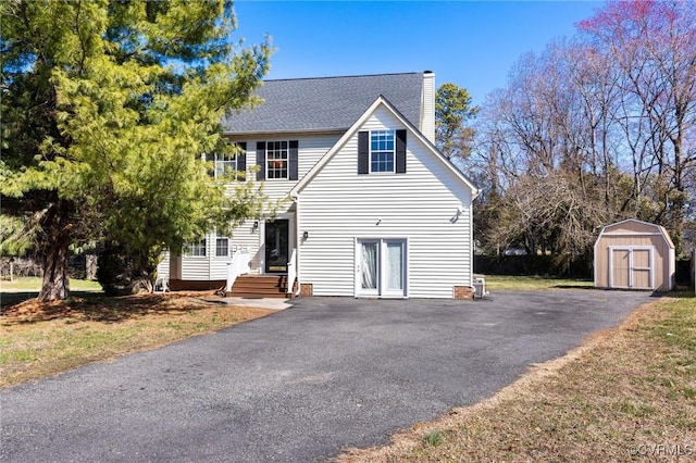
[[[361,130],[403,128],[378,109]],[[355,295],[355,243],[360,238],[408,239],[409,297],[451,298],[471,284],[471,191],[410,132],[408,172],[358,175],[358,134],[299,196],[300,281],[315,296]],[[460,211],[460,213],[458,213]]]

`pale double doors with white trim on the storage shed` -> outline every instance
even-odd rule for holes
[[[652,247],[609,247],[609,287],[655,289]]]

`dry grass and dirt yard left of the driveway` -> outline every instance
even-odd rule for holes
[[[158,348],[273,312],[226,305],[212,291],[28,299],[0,311],[0,386]]]

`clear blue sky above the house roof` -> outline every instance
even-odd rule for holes
[[[474,104],[504,87],[514,62],[575,34],[596,1],[235,2],[235,38],[268,34],[268,78],[435,72],[436,85],[467,88]]]

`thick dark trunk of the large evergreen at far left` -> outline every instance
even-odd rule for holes
[[[44,281],[38,300],[46,302],[66,299],[70,296],[70,203],[63,200],[53,202],[41,220],[41,228],[45,237],[41,246]]]

